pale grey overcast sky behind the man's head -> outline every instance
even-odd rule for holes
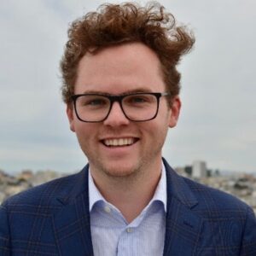
[[[69,24],[101,3],[105,1],[1,1],[3,171],[76,172],[86,164],[61,102],[59,63]],[[183,107],[163,156],[174,167],[204,160],[213,170],[256,172],[256,2],[160,3],[196,38],[195,49],[178,66]]]

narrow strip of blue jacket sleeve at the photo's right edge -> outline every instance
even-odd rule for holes
[[[245,229],[243,232],[240,256],[256,255],[256,218],[253,209],[248,207]]]

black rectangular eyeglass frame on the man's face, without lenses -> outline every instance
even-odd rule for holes
[[[156,111],[155,111],[155,114],[152,118],[150,119],[143,119],[143,120],[134,120],[134,119],[131,119],[127,116],[127,114],[125,113],[125,110],[123,108],[123,105],[122,105],[122,101],[123,99],[126,97],[126,96],[133,96],[133,95],[153,95],[156,97],[156,100],[157,100],[157,108],[156,108]],[[110,106],[109,106],[109,110],[108,110],[108,113],[106,115],[105,118],[99,120],[99,121],[86,121],[84,119],[81,119],[79,117],[79,113],[78,113],[78,110],[77,110],[77,106],[76,106],[76,102],[77,102],[77,99],[80,97],[80,96],[104,96],[106,98],[108,98],[109,102],[110,102]],[[109,113],[111,112],[112,110],[112,107],[113,107],[113,102],[119,102],[119,106],[120,108],[122,109],[122,112],[124,113],[125,115],[125,118],[126,119],[129,119],[130,121],[132,122],[146,122],[146,121],[149,121],[149,120],[152,120],[152,119],[155,119],[157,114],[158,114],[158,111],[159,111],[159,102],[160,102],[160,97],[161,96],[171,96],[169,92],[135,92],[135,93],[129,93],[129,94],[124,94],[124,95],[106,95],[106,94],[100,94],[100,93],[84,93],[84,94],[76,94],[76,95],[73,95],[71,96],[71,99],[73,101],[73,106],[74,106],[74,109],[75,109],[75,113],[76,113],[76,116],[77,118],[82,121],[82,122],[85,122],[85,123],[101,123],[103,122],[104,120],[108,119],[108,115]]]

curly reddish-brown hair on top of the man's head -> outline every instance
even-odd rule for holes
[[[88,52],[117,44],[141,42],[153,49],[161,63],[166,90],[171,98],[180,90],[177,63],[195,43],[186,26],[177,26],[174,16],[157,2],[145,7],[137,3],[102,4],[74,20],[68,29],[68,41],[61,59],[62,98],[71,102],[79,61]]]

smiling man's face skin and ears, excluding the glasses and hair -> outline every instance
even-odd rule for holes
[[[75,94],[121,95],[138,91],[166,91],[160,61],[144,44],[109,47],[96,55],[84,55],[79,62]],[[162,96],[157,117],[146,122],[126,119],[118,102],[113,103],[108,119],[101,123],[80,121],[73,106],[67,106],[67,116],[89,160],[91,172],[124,177],[145,168],[160,168],[161,148],[168,127],[177,123],[179,109],[178,97],[169,108],[167,98]],[[107,146],[115,139],[125,139],[123,142],[131,144]]]

